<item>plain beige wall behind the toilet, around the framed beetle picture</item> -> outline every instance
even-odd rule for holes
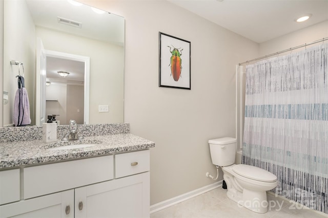
[[[126,19],[125,122],[156,143],[151,204],[213,183],[208,140],[235,137],[235,66],[258,44],[167,1],[83,2]],[[158,87],[159,31],[191,41],[191,90]]]

